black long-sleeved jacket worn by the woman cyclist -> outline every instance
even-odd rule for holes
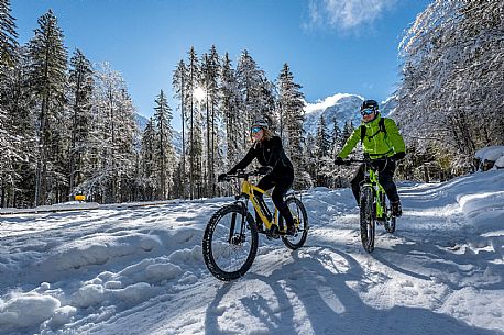
[[[273,136],[270,139],[264,139],[254,143],[249,149],[245,157],[238,163],[228,174],[235,174],[237,170],[244,169],[256,158],[262,166],[271,166],[272,177],[284,177],[294,174],[294,167],[285,155],[284,147],[282,146],[282,139],[278,136]]]

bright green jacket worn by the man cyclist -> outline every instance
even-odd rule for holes
[[[364,154],[369,154],[371,158],[381,158],[385,156],[391,157],[396,153],[405,153],[406,146],[394,120],[384,118],[386,130],[386,133],[384,133],[380,131],[379,122],[381,118],[382,115],[379,113],[373,121],[362,123],[365,125],[365,138],[362,141]],[[358,126],[347,139],[338,157],[347,158],[360,141],[361,127]]]

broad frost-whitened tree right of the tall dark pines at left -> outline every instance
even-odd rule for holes
[[[109,64],[99,64],[95,76],[89,138],[95,164],[87,168],[89,177],[83,187],[100,202],[128,201],[134,188],[135,110],[122,76]]]

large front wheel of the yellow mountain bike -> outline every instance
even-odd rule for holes
[[[210,219],[202,239],[208,270],[220,280],[242,277],[258,253],[258,228],[244,208],[223,206]]]

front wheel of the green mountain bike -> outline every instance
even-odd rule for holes
[[[360,227],[362,246],[368,253],[374,249],[374,194],[370,187],[361,188]]]

